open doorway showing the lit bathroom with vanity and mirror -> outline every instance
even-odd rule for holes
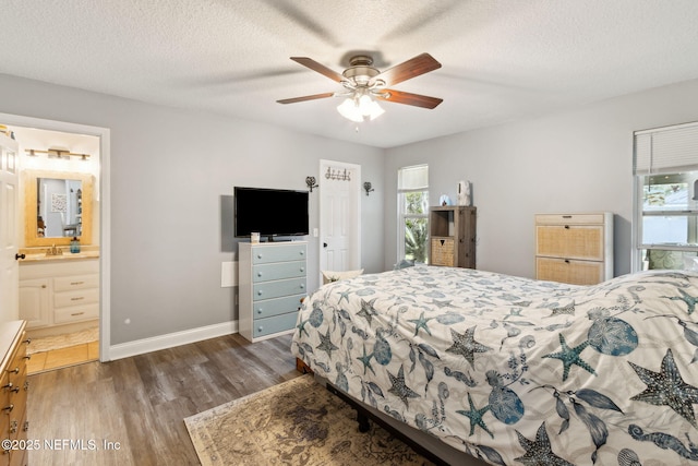
[[[98,360],[105,309],[100,193],[108,130],[4,117],[20,147],[17,213],[25,259],[19,264],[17,313],[27,321],[32,338],[28,371]]]

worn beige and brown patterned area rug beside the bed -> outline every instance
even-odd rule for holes
[[[184,419],[203,466],[431,465],[357,413],[311,375]]]

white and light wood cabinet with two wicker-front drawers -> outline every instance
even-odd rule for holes
[[[537,214],[535,278],[574,285],[613,278],[613,214]]]

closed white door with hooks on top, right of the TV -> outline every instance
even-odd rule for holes
[[[320,163],[320,271],[361,268],[361,166]]]

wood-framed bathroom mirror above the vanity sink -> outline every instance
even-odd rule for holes
[[[89,174],[24,172],[25,246],[92,243],[93,179]]]

